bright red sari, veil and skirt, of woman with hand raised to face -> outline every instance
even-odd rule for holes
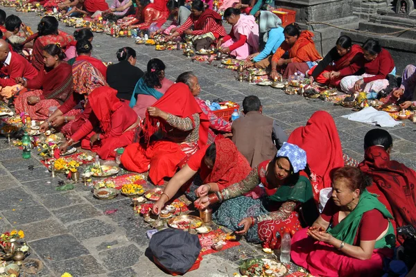
[[[201,148],[207,144],[209,120],[198,106],[198,103],[195,101],[186,84],[173,84],[164,96],[155,102],[153,107],[157,107],[173,116],[190,118],[192,121],[193,114],[199,114],[198,146]],[[174,143],[173,141],[162,139],[160,141],[150,142],[150,136],[155,134],[159,129],[166,134],[166,129],[169,128],[171,128],[171,125],[168,125],[166,121],[161,118],[149,116],[146,111],[146,120],[143,127],[145,143],[133,143],[125,148],[121,156],[121,163],[123,163],[125,169],[143,173],[150,168],[149,177],[157,185],[162,185],[165,177],[175,175],[182,159],[195,153],[195,149],[191,146],[193,142],[187,141]],[[180,132],[177,129],[173,129],[173,131]]]

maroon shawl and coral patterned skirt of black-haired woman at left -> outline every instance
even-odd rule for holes
[[[45,120],[49,116],[49,107],[59,107],[73,91],[72,68],[66,62],[61,62],[55,69],[42,69],[37,77],[27,81],[28,89],[15,98],[17,114],[26,112],[33,120]],[[29,105],[27,98],[38,96],[40,101]]]

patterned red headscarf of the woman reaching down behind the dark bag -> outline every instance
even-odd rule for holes
[[[214,168],[207,177],[201,176],[202,184],[218,183],[220,190],[243,180],[251,171],[247,159],[229,139],[215,141],[216,157]],[[202,162],[202,166],[205,163]]]

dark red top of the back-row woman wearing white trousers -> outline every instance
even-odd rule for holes
[[[353,75],[362,67],[364,67],[365,73],[375,75],[374,77],[364,78],[364,82],[367,83],[374,80],[385,79],[385,77],[395,68],[395,61],[393,60],[392,55],[390,55],[390,52],[382,48],[381,52],[371,62],[367,62],[363,59],[359,64],[354,63],[345,69],[340,70],[341,76]]]

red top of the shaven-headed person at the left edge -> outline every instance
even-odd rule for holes
[[[10,51],[10,54],[12,55],[10,64],[0,64],[1,87],[14,86],[17,77],[24,77],[27,80],[32,80],[37,76],[37,70],[30,62],[28,62],[28,60],[15,52]],[[4,79],[5,77],[7,78]]]

